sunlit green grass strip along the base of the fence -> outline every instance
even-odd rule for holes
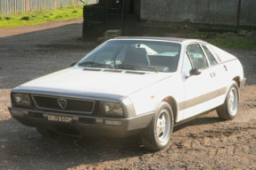
[[[83,16],[82,7],[69,7],[51,11],[23,12],[11,16],[0,16],[0,28],[13,28],[26,25],[36,25],[49,21],[70,20]]]

